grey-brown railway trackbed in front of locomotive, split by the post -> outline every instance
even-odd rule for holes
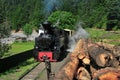
[[[68,56],[60,62],[51,62],[52,75],[48,77],[47,68],[45,62],[41,62],[24,74],[19,80],[53,80],[57,72],[65,65],[68,60]]]

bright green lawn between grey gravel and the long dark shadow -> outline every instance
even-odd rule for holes
[[[11,49],[4,54],[3,58],[33,49],[33,47],[34,42],[14,42],[11,45]]]

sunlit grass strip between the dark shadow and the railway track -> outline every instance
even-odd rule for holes
[[[0,74],[0,80],[18,80],[26,71],[32,69],[38,62],[35,62],[33,58],[28,59],[19,66],[12,68],[4,73]]]

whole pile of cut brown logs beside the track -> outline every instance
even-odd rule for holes
[[[120,80],[120,47],[81,39],[54,80]]]

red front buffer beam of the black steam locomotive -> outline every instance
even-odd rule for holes
[[[53,59],[53,52],[39,52],[38,53],[38,61],[45,62],[45,60],[49,60],[50,62],[57,61],[57,60]]]

